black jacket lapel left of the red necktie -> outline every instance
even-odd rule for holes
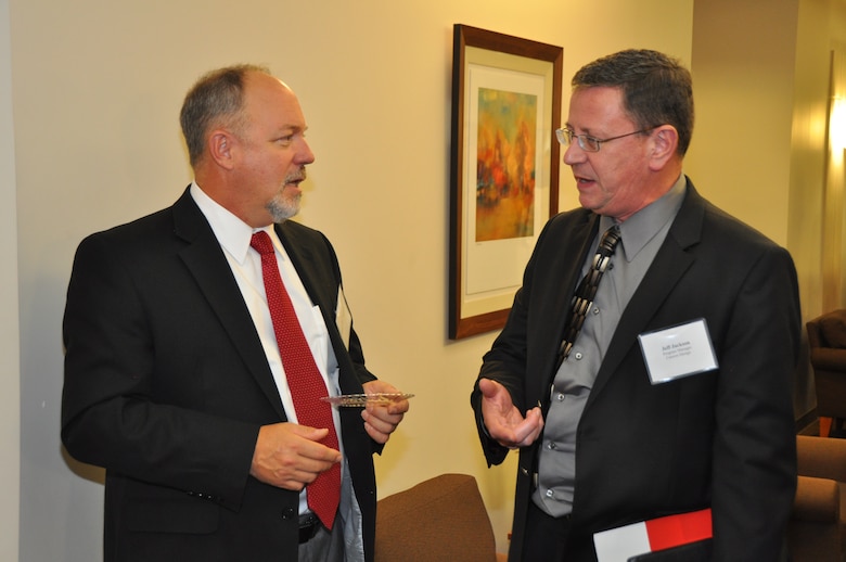
[[[188,192],[174,205],[174,223],[176,234],[189,243],[180,252],[180,257],[246,363],[249,373],[273,405],[280,419],[286,419],[279,389],[241,290],[223,256],[220,243]]]

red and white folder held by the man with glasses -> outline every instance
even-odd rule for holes
[[[641,521],[593,535],[599,562],[626,562],[646,552],[710,538],[710,509]]]

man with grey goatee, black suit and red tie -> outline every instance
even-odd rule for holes
[[[188,93],[181,123],[194,182],[82,241],[68,286],[62,439],[106,469],[104,559],[373,560],[372,455],[408,401],[297,424],[251,246],[257,232],[272,243],[320,389],[396,393],[364,367],[330,242],[287,220],[315,159],[297,98],[264,67],[222,68]],[[339,503],[321,523],[310,484],[335,467]]]

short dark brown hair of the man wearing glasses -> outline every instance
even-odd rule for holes
[[[619,88],[624,110],[638,128],[672,125],[679,133],[677,153],[688,151],[693,135],[693,81],[690,72],[657,51],[628,49],[582,66],[573,77],[573,90]]]

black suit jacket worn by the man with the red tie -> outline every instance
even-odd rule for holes
[[[335,323],[341,271],[320,232],[277,226],[341,366],[344,393],[374,376]],[[211,228],[188,191],[167,209],[87,238],[64,317],[62,439],[105,467],[105,561],[296,560],[298,494],[249,476],[259,426],[285,421],[270,368]],[[379,449],[343,409],[346,460],[375,538]]]

